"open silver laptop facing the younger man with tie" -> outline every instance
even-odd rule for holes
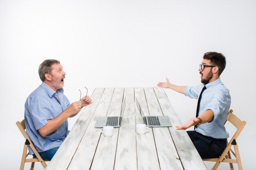
[[[138,99],[136,97],[136,105],[139,109],[144,123],[148,127],[172,127],[170,118],[168,116],[144,116],[144,113],[139,105]]]

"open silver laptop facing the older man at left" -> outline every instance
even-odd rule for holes
[[[123,106],[121,108],[121,116],[101,116],[97,117],[94,128],[103,128],[104,126],[113,126],[119,128],[121,125],[122,116],[124,115],[124,108],[126,105],[126,97],[124,98]]]

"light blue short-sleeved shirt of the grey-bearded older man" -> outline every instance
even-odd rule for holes
[[[47,124],[47,120],[54,119],[70,106],[70,101],[63,94],[63,88],[58,89],[57,93],[45,82],[42,82],[29,95],[25,103],[26,131],[38,152],[61,146],[68,134],[67,120],[46,137],[42,137],[38,132],[39,128]],[[60,101],[58,101],[58,98]],[[29,154],[34,154],[30,147]]]

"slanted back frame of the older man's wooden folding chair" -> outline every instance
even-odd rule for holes
[[[32,151],[34,152],[34,154],[36,155],[38,161],[40,161],[40,163],[43,165],[44,168],[46,168],[47,164],[45,163],[45,161],[38,153],[38,151],[36,150],[36,147],[34,146],[33,142],[31,141],[31,139],[29,138],[29,135],[27,135],[26,130],[26,126],[25,126],[25,119],[23,119],[21,122],[17,121],[16,125],[18,126],[20,132],[22,133],[23,137],[26,139],[25,141],[25,145],[30,146],[30,148],[32,149]],[[27,149],[26,149],[27,150]]]

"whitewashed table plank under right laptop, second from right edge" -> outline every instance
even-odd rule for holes
[[[162,116],[153,88],[144,88],[149,115]],[[173,139],[167,127],[153,128],[155,145],[161,170],[183,170]]]

